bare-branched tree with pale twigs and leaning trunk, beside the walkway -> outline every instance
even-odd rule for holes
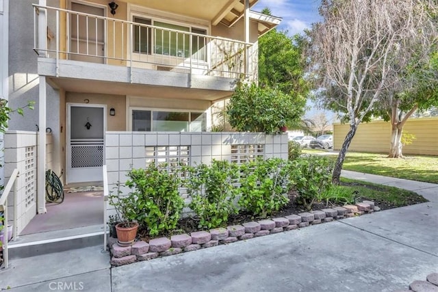
[[[433,0],[322,0],[323,21],[309,31],[312,76],[324,88],[320,101],[344,111],[350,124],[333,183],[339,183],[358,125],[369,118],[411,57],[430,50],[435,5]]]

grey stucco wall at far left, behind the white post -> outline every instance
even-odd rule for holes
[[[47,5],[59,6],[59,0],[47,0]],[[9,55],[8,55],[8,98],[13,109],[34,101],[34,109],[24,109],[24,116],[11,115],[10,130],[36,131],[38,124],[39,78],[38,55],[34,47],[34,12],[32,3],[38,0],[9,1]],[[60,96],[59,92],[47,85],[47,128],[53,135],[53,162],[60,165]],[[45,131],[45,129],[41,129]],[[56,168],[59,173],[61,168]]]

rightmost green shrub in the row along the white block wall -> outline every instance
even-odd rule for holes
[[[327,157],[311,155],[300,157],[292,161],[295,172],[296,190],[298,191],[297,203],[311,209],[320,194],[331,186],[331,174],[334,163]]]

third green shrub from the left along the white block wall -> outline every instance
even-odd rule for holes
[[[287,161],[275,158],[241,165],[239,206],[260,217],[285,206],[292,183],[287,165]]]

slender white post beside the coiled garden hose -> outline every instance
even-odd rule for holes
[[[36,206],[38,214],[46,213],[46,77],[40,76],[40,97],[38,99],[38,193]]]

